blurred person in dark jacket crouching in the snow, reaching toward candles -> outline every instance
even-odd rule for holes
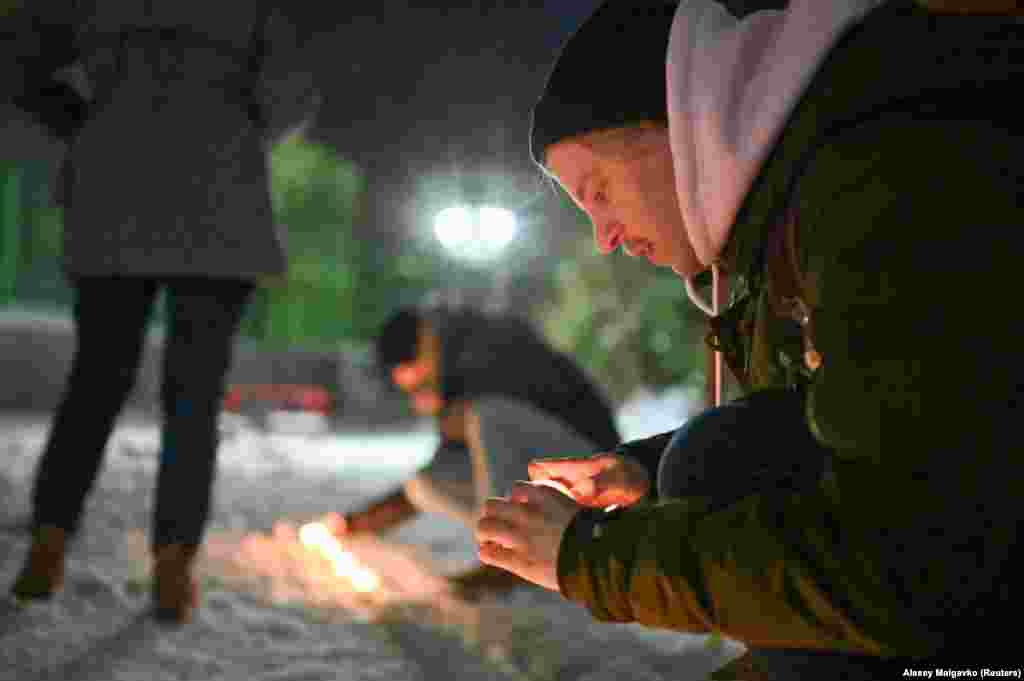
[[[360,511],[332,514],[337,535],[381,531],[421,512],[473,527],[483,501],[527,479],[526,465],[540,453],[610,452],[621,441],[594,383],[518,318],[401,308],[377,338],[377,358],[413,411],[436,419],[441,441],[399,490]],[[467,596],[520,584],[489,566],[455,579]]]

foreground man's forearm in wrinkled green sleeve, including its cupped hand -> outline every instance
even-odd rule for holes
[[[751,497],[713,514],[705,506],[693,498],[609,513],[519,483],[485,505],[480,559],[603,622],[717,631],[758,647],[880,654],[884,639],[927,652],[921,632],[890,624],[901,608],[887,600],[863,538],[839,533],[827,495]]]

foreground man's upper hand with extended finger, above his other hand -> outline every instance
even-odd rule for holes
[[[554,480],[564,485],[582,506],[629,506],[650,491],[643,465],[612,453],[537,459],[529,463],[528,471],[530,480]]]

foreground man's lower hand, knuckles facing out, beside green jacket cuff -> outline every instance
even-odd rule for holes
[[[488,499],[476,524],[480,561],[560,591],[558,549],[580,507],[551,487],[516,482],[507,499]]]

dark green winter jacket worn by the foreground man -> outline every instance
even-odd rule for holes
[[[714,513],[583,511],[559,552],[566,597],[602,621],[884,656],[976,650],[1009,627],[1022,38],[1017,19],[892,2],[836,44],[732,227],[714,339],[746,389],[806,391],[834,471]],[[649,463],[664,444],[623,451]]]

